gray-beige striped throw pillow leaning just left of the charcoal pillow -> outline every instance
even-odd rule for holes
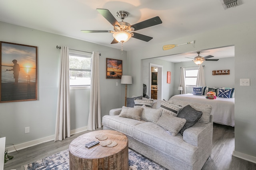
[[[185,123],[186,119],[163,112],[156,124],[164,128],[164,130],[168,131],[172,136],[176,136]]]

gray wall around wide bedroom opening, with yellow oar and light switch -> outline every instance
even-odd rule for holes
[[[128,51],[128,65],[133,66],[129,74],[134,77],[130,86],[130,95],[142,93],[142,79],[140,78],[141,59],[200,51],[204,49],[235,46],[235,149],[236,154],[246,155],[256,162],[256,20],[237,23],[207,32],[181,37],[173,41],[160,44],[150,44],[145,48]],[[196,40],[192,45],[178,46],[163,51],[166,44],[182,44]],[[152,40],[154,41],[154,39]],[[240,86],[240,78],[250,78],[250,86]]]

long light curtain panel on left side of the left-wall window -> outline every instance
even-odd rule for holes
[[[70,92],[69,92],[69,54],[68,47],[61,47],[58,104],[56,114],[55,139],[62,141],[70,137]]]

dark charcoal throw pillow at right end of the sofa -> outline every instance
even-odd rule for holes
[[[177,117],[186,119],[186,123],[184,127],[180,130],[180,134],[183,136],[183,132],[192,127],[198,120],[202,117],[202,111],[197,111],[190,105],[187,105],[181,109],[181,111],[178,113]]]

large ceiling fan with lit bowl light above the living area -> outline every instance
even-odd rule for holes
[[[124,18],[126,18],[129,15],[129,13],[126,11],[116,12],[116,16],[118,16],[118,18],[122,20],[121,22],[118,22],[116,18],[110,13],[109,10],[99,9],[99,8],[97,8],[96,10],[114,26],[114,31],[107,31],[107,30],[81,30],[81,31],[84,33],[113,33],[114,40],[111,42],[111,44],[115,44],[118,42],[123,44],[124,42],[128,41],[130,37],[148,42],[153,37],[149,37],[147,35],[142,35],[140,33],[131,32],[131,31],[137,31],[139,29],[151,27],[151,26],[162,23],[162,20],[158,16],[156,16],[154,18],[150,18],[148,20],[130,25],[130,23],[124,22]]]

